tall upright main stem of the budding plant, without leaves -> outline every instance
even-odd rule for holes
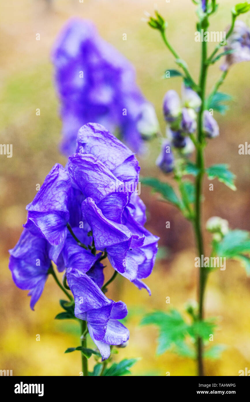
[[[202,21],[202,28],[207,29],[208,21],[205,17]],[[204,255],[203,248],[203,235],[201,228],[201,194],[202,194],[202,180],[204,174],[204,155],[203,155],[203,111],[205,109],[205,89],[206,89],[206,78],[207,78],[207,43],[202,42],[201,49],[201,70],[200,70],[200,78],[199,78],[199,96],[201,98],[201,107],[198,114],[198,122],[197,122],[197,154],[196,154],[196,164],[199,168],[199,173],[196,177],[195,182],[195,219],[194,219],[194,230],[195,237],[197,242],[197,250],[199,253],[199,257]],[[205,291],[205,283],[206,283],[206,272],[204,268],[200,268],[199,272],[199,292],[198,292],[198,302],[199,302],[199,320],[203,320],[203,299],[204,299],[204,291]],[[204,375],[203,369],[203,342],[202,338],[197,338],[197,363],[198,363],[198,375]]]

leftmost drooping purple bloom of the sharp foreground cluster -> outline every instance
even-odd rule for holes
[[[9,269],[16,286],[29,290],[30,308],[34,306],[43,292],[47,272],[51,265],[48,256],[48,243],[24,229],[16,246],[9,250]]]

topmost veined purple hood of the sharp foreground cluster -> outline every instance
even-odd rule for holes
[[[77,152],[96,156],[121,181],[138,182],[140,167],[133,152],[100,124],[81,127]]]

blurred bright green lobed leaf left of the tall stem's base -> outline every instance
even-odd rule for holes
[[[142,319],[141,324],[155,324],[159,326],[158,355],[167,351],[173,344],[183,341],[188,328],[188,324],[177,310],[171,310],[169,313],[156,311],[148,314]]]

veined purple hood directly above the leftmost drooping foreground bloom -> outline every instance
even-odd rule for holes
[[[68,172],[63,166],[56,164],[46,176],[34,200],[26,207],[28,219],[35,223],[53,245],[63,242],[66,238],[70,189]]]

